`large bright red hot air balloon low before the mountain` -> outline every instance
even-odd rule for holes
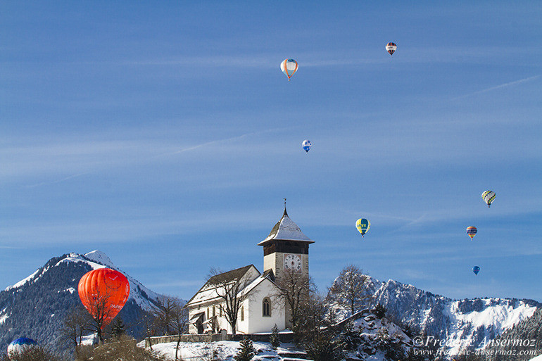
[[[130,296],[130,282],[118,271],[99,268],[81,277],[77,291],[92,317],[103,319],[103,329],[124,307]]]

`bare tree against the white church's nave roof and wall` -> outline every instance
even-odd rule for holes
[[[249,293],[244,292],[246,286],[253,281],[247,276],[249,267],[238,268],[229,272],[220,272],[211,268],[208,275],[208,286],[212,287],[216,296],[222,302],[218,306],[226,317],[232,333],[237,331],[237,318],[244,301],[249,298]]]

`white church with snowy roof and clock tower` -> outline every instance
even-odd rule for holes
[[[282,218],[271,229],[269,236],[258,243],[263,246],[263,273],[248,265],[215,275],[223,281],[237,281],[241,285],[238,295],[243,303],[238,312],[236,334],[270,332],[272,327],[282,330],[290,327],[284,302],[277,299],[275,277],[283,270],[301,272],[308,277],[308,246],[314,241],[305,236],[298,225],[288,217],[286,204]],[[225,300],[220,298],[219,286],[211,277],[188,301],[189,334],[219,333],[233,330],[225,317]],[[242,280],[239,283],[239,280]],[[223,294],[223,293],[222,293]]]

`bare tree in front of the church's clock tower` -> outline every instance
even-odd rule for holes
[[[289,320],[295,331],[301,319],[301,305],[308,300],[310,293],[315,293],[315,284],[310,276],[295,270],[285,269],[276,279],[277,299],[287,306]]]

